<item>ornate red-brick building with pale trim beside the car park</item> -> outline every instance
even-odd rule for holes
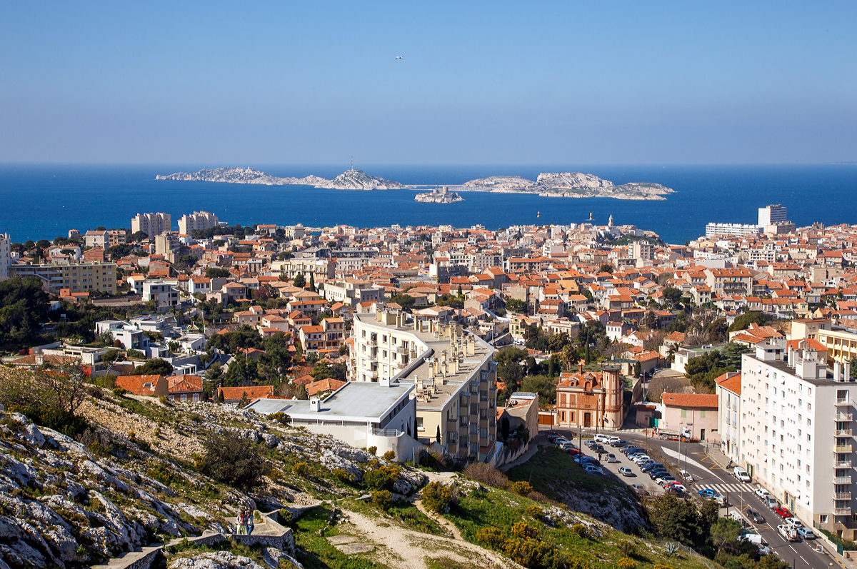
[[[584,371],[578,362],[577,373],[563,372],[556,386],[556,424],[560,428],[620,428],[622,380],[618,363],[603,362],[601,371]]]

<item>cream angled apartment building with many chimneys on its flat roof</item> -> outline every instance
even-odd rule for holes
[[[354,314],[350,379],[416,386],[417,440],[491,462],[496,456],[494,349],[462,326],[405,313]]]

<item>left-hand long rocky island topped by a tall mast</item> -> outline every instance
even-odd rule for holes
[[[402,189],[404,185],[381,177],[369,176],[362,170],[347,170],[328,180],[318,176],[275,177],[251,168],[215,168],[198,172],[176,172],[168,176],[156,176],[156,180],[179,180],[184,182],[261,183],[268,186],[298,184],[329,189]]]

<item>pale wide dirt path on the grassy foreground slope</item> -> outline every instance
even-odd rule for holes
[[[460,538],[433,536],[393,525],[379,524],[382,518],[369,518],[358,512],[345,511],[345,514],[348,515],[348,523],[340,525],[339,530],[344,533],[357,533],[367,542],[383,546],[378,552],[382,557],[381,561],[393,568],[426,569],[427,557],[432,559],[446,557],[458,563],[475,564],[489,569],[520,568],[500,554],[464,542]]]

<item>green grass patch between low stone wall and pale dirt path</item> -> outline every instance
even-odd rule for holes
[[[319,531],[327,528],[327,519],[331,510],[317,507],[309,510],[297,520],[293,527],[295,545],[303,551],[297,553],[297,560],[306,569],[383,569],[386,567],[359,555],[346,555],[327,542],[326,536],[336,536],[339,531],[335,527],[325,530],[324,536]]]

